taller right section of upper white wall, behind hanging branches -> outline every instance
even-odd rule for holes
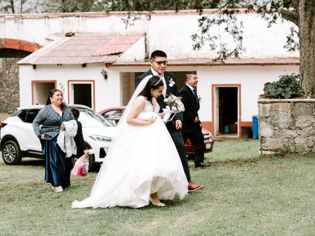
[[[256,14],[240,14],[238,16],[244,22],[244,41],[241,58],[282,58],[299,57],[299,53],[288,53],[283,48],[289,28],[293,25],[288,22],[275,24],[268,28],[267,22],[260,19]],[[168,58],[215,58],[216,51],[210,51],[207,42],[200,51],[193,51],[191,35],[198,29],[198,15],[155,15],[148,22],[148,51],[159,49],[166,52]],[[221,27],[223,28],[223,27]],[[219,28],[211,30],[212,35],[219,35]],[[231,36],[224,34],[221,29],[222,42],[227,47],[234,45]],[[217,44],[219,45],[219,44]]]

